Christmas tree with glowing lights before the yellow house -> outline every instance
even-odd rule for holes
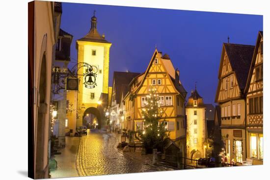
[[[149,95],[142,108],[144,129],[139,130],[139,134],[147,153],[152,153],[153,149],[162,151],[164,139],[168,137],[167,127],[162,122],[160,123],[163,111],[159,103],[159,95],[156,92],[156,88],[150,87]]]

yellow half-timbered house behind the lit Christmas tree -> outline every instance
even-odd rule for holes
[[[124,98],[125,128],[143,129],[142,109],[145,105],[150,87],[156,88],[162,108],[162,119],[172,140],[185,138],[185,97],[179,71],[175,70],[167,54],[157,49],[146,71],[135,77],[129,84],[130,90]],[[183,147],[184,148],[184,147]]]

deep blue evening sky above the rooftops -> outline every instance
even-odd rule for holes
[[[144,72],[158,51],[169,54],[188,91],[197,90],[205,103],[215,101],[222,43],[255,45],[263,16],[141,7],[62,3],[61,28],[73,35],[71,61],[77,61],[76,40],[90,30],[96,10],[97,28],[112,43],[109,85],[114,71]],[[72,67],[74,63],[70,63]]]

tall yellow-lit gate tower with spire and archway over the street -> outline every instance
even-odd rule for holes
[[[83,73],[86,68],[80,68],[78,71],[79,92],[78,104],[79,109],[77,115],[77,127],[83,125],[83,118],[94,114],[98,121],[102,114],[97,109],[99,105],[108,102],[108,76],[109,76],[109,49],[111,43],[105,39],[105,35],[100,35],[97,30],[97,18],[94,15],[91,18],[90,31],[81,39],[76,41],[76,49],[78,51],[78,64],[85,62],[93,67],[92,72],[96,76],[96,84],[93,88],[86,87]],[[86,79],[87,80],[87,79]],[[106,99],[107,98],[107,99]],[[99,123],[100,124],[100,123]]]

